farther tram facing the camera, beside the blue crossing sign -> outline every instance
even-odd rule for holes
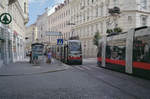
[[[82,64],[82,47],[80,40],[67,40],[63,45],[55,45],[52,55],[66,64]]]

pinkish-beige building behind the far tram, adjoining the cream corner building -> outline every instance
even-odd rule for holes
[[[51,10],[54,10],[54,12],[48,16],[48,31],[61,32],[63,34],[63,36],[51,36],[49,38],[50,44],[55,45],[58,38],[67,40],[71,36],[71,26],[67,25],[70,23],[71,14],[69,0],[65,0],[64,3],[55,6],[49,11],[52,12]]]

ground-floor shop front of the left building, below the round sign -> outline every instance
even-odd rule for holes
[[[3,64],[23,61],[24,39],[16,32],[1,26],[0,27],[0,67]]]

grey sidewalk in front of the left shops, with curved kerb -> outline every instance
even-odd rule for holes
[[[54,60],[52,64],[43,63],[41,65],[34,66],[27,61],[12,63],[4,65],[0,68],[0,76],[21,76],[21,75],[33,75],[48,72],[57,72],[68,69],[69,66]]]

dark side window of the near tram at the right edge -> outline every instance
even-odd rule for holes
[[[150,36],[134,39],[133,61],[150,63]]]

